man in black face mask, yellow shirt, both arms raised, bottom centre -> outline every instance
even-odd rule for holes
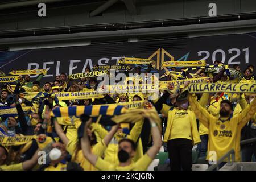
[[[146,111],[145,111],[146,112]],[[140,158],[137,162],[133,162],[133,156],[135,155],[136,144],[133,140],[122,139],[118,142],[118,166],[109,162],[106,162],[104,159],[100,158],[97,155],[94,155],[90,151],[90,142],[88,135],[86,133],[90,122],[86,122],[84,129],[84,137],[81,140],[82,152],[85,157],[92,163],[95,167],[101,171],[145,171],[148,166],[151,164],[152,160],[155,158],[155,155],[158,153],[160,147],[162,146],[161,135],[158,127],[156,126],[155,121],[150,117],[143,114],[144,117],[148,118],[151,123],[151,133],[153,138],[153,146]]]

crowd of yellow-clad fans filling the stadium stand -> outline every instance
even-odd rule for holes
[[[220,62],[214,63],[218,64],[221,68],[218,73],[201,68],[192,74],[185,68],[171,67],[170,71],[185,73],[184,77],[177,77],[164,67],[169,74],[162,80],[188,80],[196,75],[206,77],[207,84],[256,84],[253,65],[249,65],[239,79],[225,74],[228,68]],[[239,65],[234,65],[233,69],[240,72]],[[92,70],[86,68],[85,72]],[[139,75],[143,71],[137,66],[124,72]],[[150,72],[151,64],[145,73]],[[256,93],[192,94],[183,92],[188,84],[183,88],[168,84],[169,92],[159,91],[156,99],[140,93],[119,93],[103,94],[102,98],[56,100],[51,93],[97,90],[97,77],[76,81],[61,73],[50,82],[42,82],[43,77],[43,73],[35,80],[23,75],[23,79],[15,82],[1,83],[0,170],[144,171],[162,144],[168,152],[167,164],[173,171],[191,171],[193,147],[197,155],[207,161],[212,160],[212,151],[217,161],[232,149],[235,162],[255,161],[256,142],[240,146],[240,141],[256,137]],[[44,93],[46,97],[35,102],[24,97],[27,92]],[[102,105],[111,109],[113,104],[136,101],[145,104],[127,113],[101,113],[105,108]],[[61,113],[64,111],[61,108],[69,111],[80,106],[90,108],[91,113],[98,110],[98,114]],[[117,106],[114,106],[115,109]],[[58,116],[54,110],[61,114]],[[133,118],[138,119],[133,122]],[[38,155],[40,151],[45,152],[45,158]],[[226,162],[227,159],[220,167]]]

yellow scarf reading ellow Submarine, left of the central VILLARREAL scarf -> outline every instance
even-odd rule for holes
[[[103,98],[104,96],[97,91],[93,92],[55,92],[52,93],[59,100],[73,100],[73,99],[90,99],[90,98]]]

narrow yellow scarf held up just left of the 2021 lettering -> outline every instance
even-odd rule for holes
[[[205,66],[204,60],[200,61],[166,61],[162,63],[162,67],[200,67]]]

